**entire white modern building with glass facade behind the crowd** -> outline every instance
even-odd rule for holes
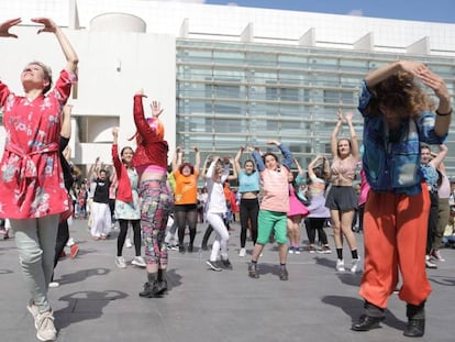
[[[455,93],[455,24],[169,1],[0,0],[0,20],[16,16],[19,40],[0,38],[0,76],[16,92],[27,62],[49,64],[54,75],[65,62],[55,37],[37,36],[30,18],[55,20],[79,55],[71,99],[79,165],[97,156],[110,163],[112,126],[121,145],[132,144],[141,88],[146,106],[157,99],[165,108],[171,151],[181,145],[191,158],[197,145],[203,157],[234,155],[241,145],[280,140],[303,166],[330,151],[337,109],[356,111],[359,82],[378,66],[423,60]],[[362,137],[359,114],[356,126]]]

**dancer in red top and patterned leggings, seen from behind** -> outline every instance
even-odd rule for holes
[[[143,90],[134,95],[134,123],[136,152],[133,166],[140,176],[141,228],[145,245],[147,282],[141,297],[153,298],[167,290],[167,247],[165,243],[167,219],[173,210],[173,194],[167,185],[168,145],[164,140],[163,112],[157,101],[152,102],[152,118],[145,119]],[[133,136],[134,137],[134,136]]]

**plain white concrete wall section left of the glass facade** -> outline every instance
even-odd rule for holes
[[[14,92],[22,95],[20,73],[31,60],[42,60],[53,69],[54,79],[65,65],[62,49],[53,34],[36,35],[36,26],[14,27],[19,40],[0,40],[0,77]],[[159,100],[165,108],[162,114],[166,140],[175,148],[176,126],[176,57],[175,36],[109,30],[65,30],[79,55],[79,84],[74,104],[74,136],[70,146],[76,164],[90,164],[97,156],[110,163],[111,129],[120,126],[119,144],[135,132],[133,96],[143,88],[148,96],[144,110],[149,115],[149,103]],[[77,118],[86,124],[77,126]],[[84,121],[84,120],[82,120]],[[79,144],[78,134],[87,136]],[[4,130],[0,130],[0,148],[3,150]],[[170,156],[170,155],[169,155]]]

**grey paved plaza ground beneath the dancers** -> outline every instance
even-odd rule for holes
[[[275,244],[259,261],[260,278],[247,276],[247,257],[238,257],[240,228],[233,224],[230,258],[233,271],[207,269],[209,252],[169,253],[169,291],[144,299],[138,291],[145,271],[114,265],[116,232],[93,241],[87,221],[71,227],[80,246],[75,260],[63,260],[55,272],[60,286],[49,289],[60,342],[397,342],[402,335],[406,305],[396,295],[389,300],[381,329],[351,331],[362,312],[360,274],[335,272],[335,254],[289,255],[289,280],[278,278]],[[197,245],[206,224],[199,224]],[[331,245],[333,236],[328,229]],[[306,236],[303,233],[302,236]],[[188,236],[186,236],[188,239]],[[212,236],[213,239],[213,236]],[[363,251],[362,234],[356,234]],[[67,249],[69,252],[69,249]],[[363,252],[360,252],[360,255]],[[455,341],[455,250],[442,250],[446,262],[429,269],[433,293],[426,306],[426,333],[417,341]],[[133,249],[124,249],[126,261]],[[346,263],[351,257],[345,250]],[[25,309],[29,294],[19,269],[14,239],[0,241],[0,341],[36,341],[32,317]]]

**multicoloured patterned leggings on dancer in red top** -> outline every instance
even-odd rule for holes
[[[141,228],[145,262],[167,267],[166,224],[173,208],[173,195],[166,180],[148,179],[140,184]]]

